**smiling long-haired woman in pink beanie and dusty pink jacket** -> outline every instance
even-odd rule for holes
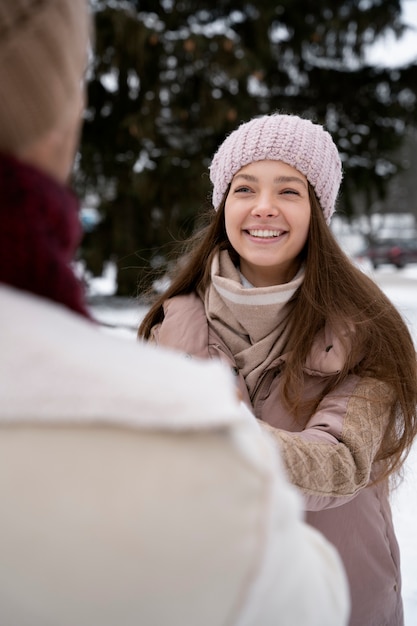
[[[341,178],[318,124],[266,115],[239,126],[210,166],[212,219],[139,336],[230,366],[307,521],[342,556],[350,626],[402,626],[388,492],[417,431],[416,353],[331,234]]]

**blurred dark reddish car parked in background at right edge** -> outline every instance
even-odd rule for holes
[[[402,268],[408,263],[417,263],[417,238],[380,239],[365,248],[357,258],[369,259],[375,269],[384,264]]]

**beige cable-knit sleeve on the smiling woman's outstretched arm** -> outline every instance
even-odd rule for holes
[[[328,394],[301,432],[262,422],[280,447],[291,482],[303,492],[306,510],[345,504],[368,485],[392,402],[385,383],[359,379],[349,396]]]

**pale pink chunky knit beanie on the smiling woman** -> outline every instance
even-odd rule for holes
[[[297,115],[264,115],[241,124],[221,144],[210,165],[217,210],[233,176],[253,161],[283,161],[313,186],[327,224],[335,210],[342,164],[330,134]]]

